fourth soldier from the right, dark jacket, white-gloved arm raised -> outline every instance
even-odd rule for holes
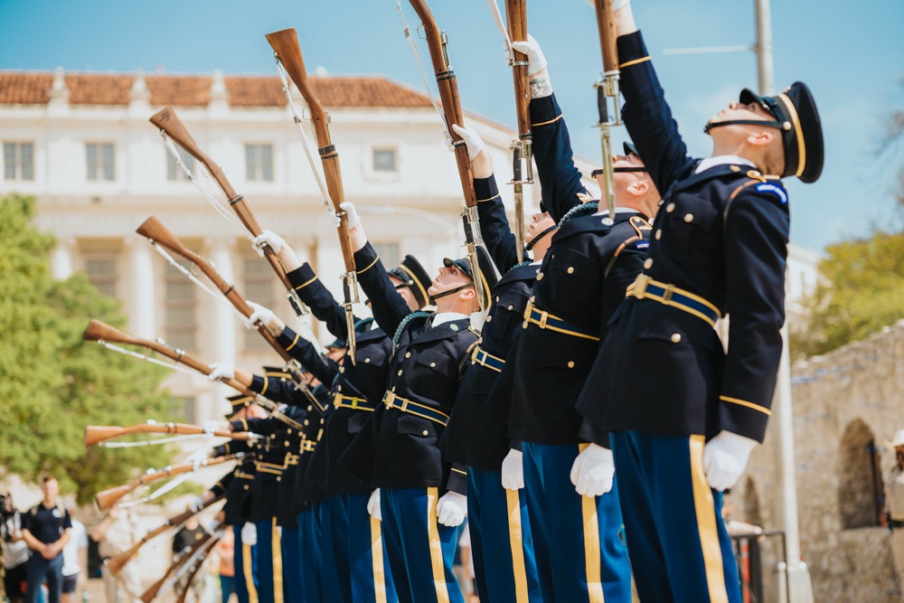
[[[478,336],[469,318],[480,308],[474,279],[484,279],[488,296],[494,271],[482,248],[479,266],[466,258],[444,259],[427,288],[437,312],[411,312],[368,243],[354,205],[342,207],[358,282],[377,324],[393,337],[382,404],[340,463],[374,488],[368,509],[381,519],[400,601],[460,603],[452,565],[466,514],[466,470],[443,457],[438,439]]]

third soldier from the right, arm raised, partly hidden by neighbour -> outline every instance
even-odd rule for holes
[[[441,448],[448,460],[467,466],[467,525],[477,594],[489,601],[541,601],[526,497],[503,486],[503,460],[510,449],[508,422],[486,408],[486,396],[519,334],[540,262],[556,223],[541,204],[524,240],[533,260],[519,264],[515,236],[505,216],[485,145],[470,127],[454,126],[471,158],[480,230],[496,267],[504,274],[493,289]]]

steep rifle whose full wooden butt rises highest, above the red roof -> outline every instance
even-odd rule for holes
[[[311,123],[314,125],[314,134],[317,139],[317,151],[320,154],[321,164],[324,166],[326,189],[329,193],[329,203],[333,205],[333,211],[339,218],[339,245],[342,248],[342,257],[345,263],[345,272],[342,275],[343,299],[345,307],[345,326],[347,330],[348,355],[352,363],[355,362],[354,342],[354,315],[353,304],[359,302],[358,275],[354,265],[354,251],[349,235],[348,215],[340,207],[344,202],[342,184],[342,172],[339,169],[339,153],[330,138],[330,118],[320,104],[320,99],[307,81],[305,60],[301,55],[301,47],[298,45],[298,36],[295,28],[284,29],[278,32],[268,33],[267,42],[273,49],[277,62],[282,66],[295,85],[301,96],[307,102],[311,112]]]

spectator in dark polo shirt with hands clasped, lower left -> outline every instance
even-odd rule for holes
[[[60,484],[53,476],[45,476],[41,485],[43,500],[22,516],[22,537],[32,556],[28,560],[28,588],[25,598],[36,603],[41,583],[47,580],[49,603],[60,603],[62,597],[62,548],[71,537],[69,512],[57,501]]]

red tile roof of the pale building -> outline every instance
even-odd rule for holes
[[[73,105],[127,105],[134,75],[67,73],[66,88]],[[162,107],[204,106],[210,102],[212,76],[147,75],[150,103]],[[310,78],[325,107],[429,107],[428,97],[380,76],[318,76]],[[226,76],[233,107],[284,107],[286,97],[276,76]],[[53,74],[0,71],[0,105],[44,105],[50,100]]]

